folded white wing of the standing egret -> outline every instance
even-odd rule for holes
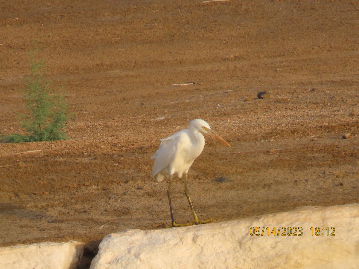
[[[151,157],[151,160],[155,159],[152,176],[160,173],[160,171],[171,163],[172,157],[176,153],[177,145],[181,140],[180,132],[174,133],[167,138],[160,139],[162,142],[160,143],[157,152]],[[169,176],[169,171],[166,176]]]

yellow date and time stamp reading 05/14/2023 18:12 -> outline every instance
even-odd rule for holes
[[[251,227],[251,236],[302,236],[306,232],[303,227]],[[335,236],[335,227],[311,227],[308,229],[312,236]]]

